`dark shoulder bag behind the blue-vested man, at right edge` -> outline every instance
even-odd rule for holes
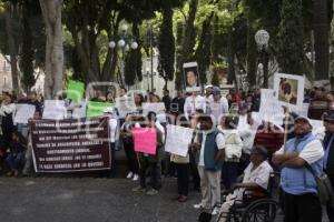
[[[306,165],[306,169],[315,179],[321,204],[330,204],[332,208],[334,208],[334,191],[327,174],[325,172],[322,172],[322,174],[317,175],[313,168],[311,168],[311,165]]]

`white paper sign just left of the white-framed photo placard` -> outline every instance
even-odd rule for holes
[[[284,110],[275,97],[275,90],[261,89],[261,105],[257,118],[261,118],[261,122],[266,120],[277,125],[283,124]]]

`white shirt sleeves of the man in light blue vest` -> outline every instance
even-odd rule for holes
[[[284,147],[277,150],[275,154],[284,154]],[[320,140],[313,140],[305,145],[298,157],[305,160],[308,164],[312,164],[318,161],[323,155],[324,149],[322,142]]]

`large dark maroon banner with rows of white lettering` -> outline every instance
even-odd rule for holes
[[[109,170],[111,152],[108,118],[32,120],[36,172]]]

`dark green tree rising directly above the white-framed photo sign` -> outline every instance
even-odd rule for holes
[[[302,0],[283,0],[277,60],[283,72],[303,74]]]

